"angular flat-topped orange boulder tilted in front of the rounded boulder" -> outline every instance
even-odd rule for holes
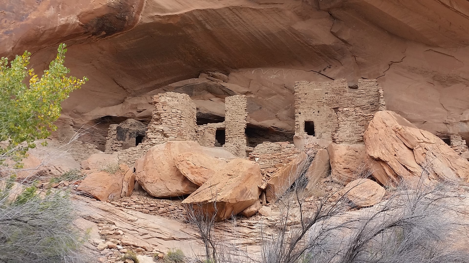
[[[196,215],[214,215],[217,221],[236,215],[258,201],[262,183],[259,164],[234,159],[197,191],[182,201]]]

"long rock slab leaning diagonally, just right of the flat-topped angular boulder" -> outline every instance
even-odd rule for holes
[[[280,168],[267,181],[265,197],[269,203],[275,202],[295,183],[296,179],[304,172],[307,165],[306,153],[299,153],[296,158],[286,166]]]

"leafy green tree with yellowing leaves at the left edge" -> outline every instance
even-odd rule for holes
[[[61,102],[70,92],[88,80],[68,76],[63,65],[67,49],[60,44],[55,59],[39,78],[34,69],[28,69],[31,53],[24,51],[8,62],[0,59],[0,162],[6,158],[21,159],[33,141],[45,139],[57,127]],[[27,80],[29,78],[29,81]],[[27,145],[20,146],[23,142]]]

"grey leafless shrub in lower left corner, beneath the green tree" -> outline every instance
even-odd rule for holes
[[[78,173],[72,171],[62,177],[74,180],[77,176]],[[14,170],[3,174],[0,178],[0,262],[88,262],[90,258],[81,249],[84,234],[74,225],[76,217],[69,198],[73,184],[67,185],[54,189],[52,183],[19,182]]]

